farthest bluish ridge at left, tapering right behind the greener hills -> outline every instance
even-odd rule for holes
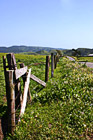
[[[50,48],[50,47],[39,47],[39,46],[11,46],[11,47],[0,47],[0,52],[2,53],[23,53],[23,52],[40,52],[40,51],[51,51],[53,49],[58,49],[60,48]],[[63,50],[61,48],[61,50]]]

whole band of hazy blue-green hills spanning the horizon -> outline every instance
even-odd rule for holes
[[[40,46],[11,46],[11,47],[0,47],[1,53],[24,53],[24,54],[40,54],[40,55],[49,55],[50,53],[56,53],[56,50],[62,50],[63,55],[72,55],[71,49],[63,48],[51,48],[51,47],[40,47]],[[78,48],[78,51],[81,52],[81,56],[87,56],[93,54],[93,49],[89,48]]]

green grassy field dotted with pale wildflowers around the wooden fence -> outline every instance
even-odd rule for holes
[[[17,64],[24,62],[32,68],[32,74],[45,79],[45,56],[15,56]],[[5,101],[2,70],[0,67],[1,105]],[[61,58],[46,88],[31,81],[30,90],[32,103],[27,105],[14,136],[7,136],[8,140],[92,139],[93,69]]]

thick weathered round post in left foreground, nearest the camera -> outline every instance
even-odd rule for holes
[[[6,91],[8,105],[8,132],[13,134],[15,129],[15,90],[13,82],[13,70],[6,71]]]

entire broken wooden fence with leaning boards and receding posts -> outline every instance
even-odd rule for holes
[[[59,56],[51,54],[51,77],[54,75],[54,69],[59,61]],[[45,68],[45,82],[49,79],[49,65],[50,58],[46,56],[46,68]],[[27,97],[31,101],[31,93],[29,88],[30,79],[41,84],[43,87],[46,83],[40,80],[38,77],[31,73],[31,69],[23,63],[20,64],[20,69],[17,69],[16,59],[13,53],[3,56],[3,67],[6,83],[6,98],[7,98],[7,112],[8,112],[8,133],[13,134],[15,130],[16,111],[20,109],[19,119],[24,114]],[[24,91],[21,91],[21,82],[19,78],[22,77],[24,83]]]

